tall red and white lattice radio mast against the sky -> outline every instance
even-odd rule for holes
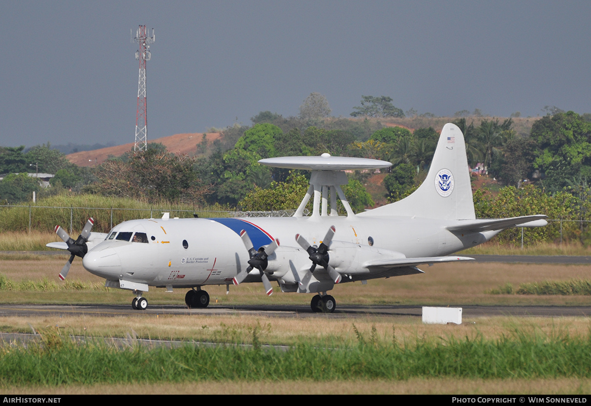
[[[131,35],[131,31],[130,31]],[[134,152],[145,151],[148,147],[148,116],[146,103],[146,61],[150,60],[150,44],[155,40],[154,28],[152,36],[148,37],[146,26],[140,25],[131,42],[139,44],[139,50],[135,51],[135,59],[139,60],[138,79],[138,112],[135,116],[135,145]]]

